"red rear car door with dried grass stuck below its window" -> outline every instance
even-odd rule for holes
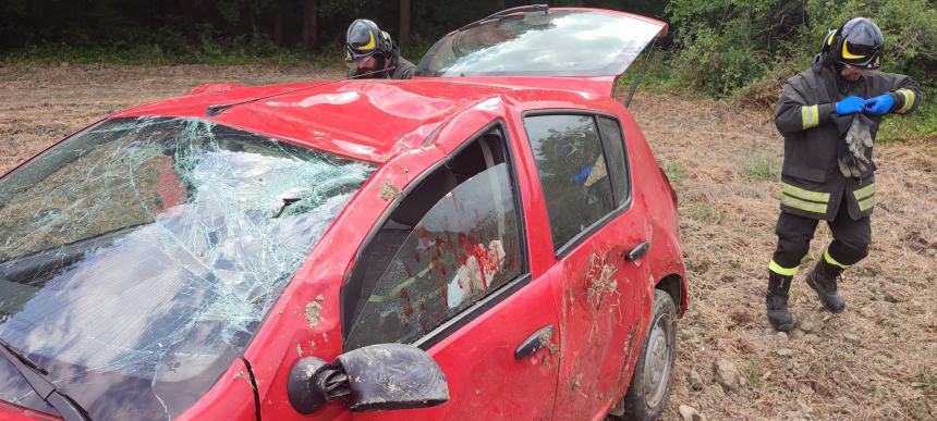
[[[560,376],[556,419],[603,417],[640,352],[650,284],[644,215],[632,207],[618,121],[588,112],[524,115],[556,256]],[[534,227],[532,227],[534,230]],[[629,257],[629,255],[635,252]],[[630,260],[631,259],[631,260]]]

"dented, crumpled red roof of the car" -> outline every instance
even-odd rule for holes
[[[385,162],[418,147],[450,116],[513,89],[446,79],[219,86],[228,90],[161,100],[113,116],[200,117],[346,158]],[[261,97],[267,98],[257,99]],[[244,103],[208,115],[211,106],[238,102]]]

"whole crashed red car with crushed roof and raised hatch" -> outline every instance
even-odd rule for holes
[[[413,81],[207,86],[49,148],[0,178],[0,418],[656,418],[677,197],[611,92],[666,27],[507,11]]]

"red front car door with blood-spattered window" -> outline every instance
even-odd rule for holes
[[[495,123],[404,191],[343,287],[344,350],[412,343],[449,403],[354,419],[550,419],[557,312],[530,271],[528,215],[507,128]]]

